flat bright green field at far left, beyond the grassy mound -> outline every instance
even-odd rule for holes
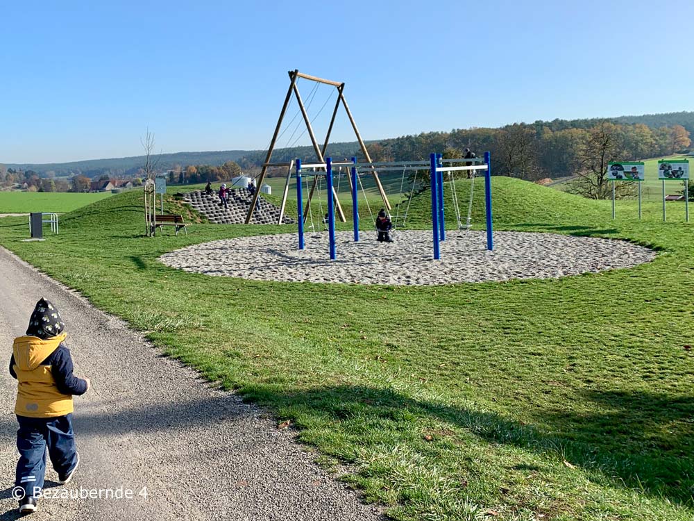
[[[0,192],[0,213],[65,213],[110,196],[110,192],[95,194]]]

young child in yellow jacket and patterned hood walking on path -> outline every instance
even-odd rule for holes
[[[13,495],[19,498],[19,513],[36,510],[44,484],[46,450],[60,483],[70,481],[80,463],[72,431],[72,395],[83,395],[90,380],[72,374],[72,358],[62,343],[67,336],[64,331],[56,306],[40,299],[26,336],[15,338],[12,346],[10,374],[17,379],[15,414],[19,422]]]

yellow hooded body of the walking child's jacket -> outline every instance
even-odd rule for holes
[[[49,356],[65,340],[65,333],[42,340],[35,336],[15,338],[12,351],[17,374],[15,414],[35,418],[63,416],[74,411],[72,395],[65,395],[56,385]],[[68,355],[69,356],[69,355]]]

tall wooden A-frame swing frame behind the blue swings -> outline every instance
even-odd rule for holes
[[[330,125],[328,126],[328,133],[325,135],[325,142],[323,142],[323,147],[319,147],[318,142],[316,141],[316,135],[313,132],[313,128],[311,126],[311,120],[308,117],[308,114],[306,113],[306,108],[304,107],[303,101],[301,100],[301,94],[299,94],[299,90],[296,86],[296,81],[298,78],[304,78],[310,81],[316,81],[318,83],[325,83],[326,85],[332,85],[333,87],[337,88],[337,101],[335,102],[335,109],[332,110],[332,118],[330,118]],[[291,176],[291,167],[293,165],[293,161],[291,163],[270,163],[270,160],[272,158],[272,153],[275,149],[275,144],[277,142],[278,135],[280,133],[280,127],[282,126],[282,120],[285,117],[285,113],[287,112],[287,106],[289,106],[289,101],[291,101],[291,94],[294,94],[296,96],[296,101],[298,102],[298,106],[301,109],[301,115],[303,115],[304,122],[306,124],[306,129],[308,131],[308,135],[311,138],[311,143],[313,145],[313,149],[316,153],[316,157],[318,158],[319,163],[325,163],[325,151],[328,149],[328,142],[330,141],[330,134],[332,133],[332,126],[335,124],[335,117],[337,116],[337,110],[339,109],[340,104],[344,106],[345,112],[347,113],[347,117],[350,120],[350,123],[352,124],[352,128],[354,129],[354,133],[357,136],[357,141],[359,142],[359,147],[362,149],[362,153],[364,154],[364,158],[366,159],[367,163],[372,163],[371,161],[371,156],[369,156],[369,151],[366,150],[366,144],[364,143],[364,140],[362,140],[362,135],[359,134],[359,129],[357,129],[357,123],[354,120],[354,117],[352,116],[351,111],[349,110],[349,106],[347,105],[347,101],[344,97],[344,88],[345,84],[339,83],[337,81],[330,81],[326,80],[323,78],[318,78],[316,76],[310,76],[308,74],[302,74],[301,72],[298,72],[298,69],[294,69],[293,71],[289,71],[289,89],[287,90],[287,96],[285,97],[285,104],[282,105],[282,110],[280,110],[280,117],[277,120],[277,125],[275,127],[275,133],[272,136],[272,140],[270,141],[270,147],[267,151],[267,156],[265,157],[265,160],[262,164],[262,169],[260,170],[260,175],[257,178],[257,190],[255,190],[255,193],[253,194],[253,198],[251,199],[251,206],[248,208],[248,213],[246,214],[246,224],[251,222],[251,219],[253,218],[253,210],[255,210],[255,206],[257,205],[257,199],[260,195],[260,187],[262,187],[262,183],[265,180],[265,174],[267,172],[268,167],[273,167],[273,166],[286,166],[288,167],[287,169],[287,182],[285,183],[285,190],[282,193],[282,205],[281,208],[284,210],[285,204],[287,202],[287,193],[288,193],[288,188],[289,188],[289,178]],[[385,190],[383,189],[383,185],[381,184],[380,179],[378,179],[378,172],[372,168],[371,173],[373,174],[373,179],[375,180],[376,186],[378,187],[378,191],[380,192],[381,198],[383,199],[383,204],[388,210],[391,209],[391,205],[388,201],[388,196],[386,195]],[[304,211],[304,215],[307,215],[308,213],[308,208],[309,205],[311,204],[311,198],[313,197],[314,190],[316,189],[316,184],[318,183],[318,178],[314,178],[313,185],[311,187],[311,191],[309,192],[308,195],[308,200],[306,202],[306,208]],[[342,211],[342,207],[340,205],[340,201],[337,198],[337,193],[335,193],[335,188],[333,188],[333,194],[335,195],[335,206],[337,207],[337,214],[339,215],[339,218],[341,222],[345,222],[345,215],[344,212]],[[278,220],[278,224],[282,224],[282,217],[284,212],[280,212],[280,217]]]

